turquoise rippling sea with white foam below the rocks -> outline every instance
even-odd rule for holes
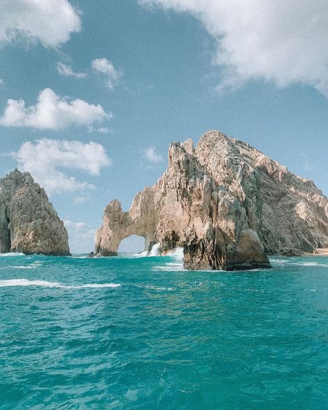
[[[0,255],[0,409],[328,409],[328,258]]]

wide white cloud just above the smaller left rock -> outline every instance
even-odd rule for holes
[[[111,165],[102,145],[81,141],[26,141],[12,153],[12,157],[17,160],[19,168],[30,172],[49,195],[93,188],[91,184],[67,175],[68,170],[81,170],[98,176],[102,168]],[[65,172],[62,168],[66,168]]]

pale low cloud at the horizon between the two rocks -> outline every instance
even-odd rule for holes
[[[73,253],[86,253],[94,249],[95,229],[86,222],[64,220],[69,233],[69,247]]]

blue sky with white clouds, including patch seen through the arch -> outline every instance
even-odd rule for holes
[[[326,0],[0,4],[0,176],[31,172],[73,253],[163,174],[170,141],[207,130],[328,194]]]

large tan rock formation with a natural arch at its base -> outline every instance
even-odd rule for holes
[[[116,255],[123,238],[145,238],[167,253],[183,247],[188,269],[270,267],[267,254],[328,244],[328,200],[250,145],[221,132],[172,143],[169,166],[129,212],[112,201],[95,237],[95,254]]]

